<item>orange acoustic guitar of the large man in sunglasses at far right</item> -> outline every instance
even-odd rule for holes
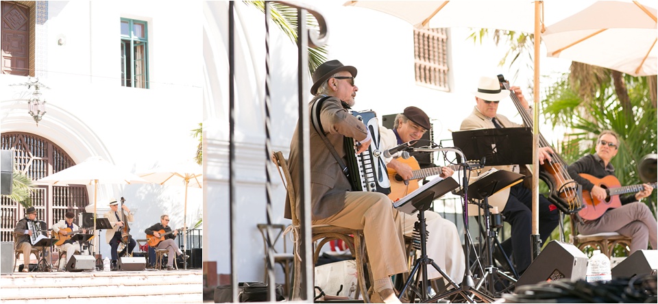
[[[609,208],[617,208],[622,206],[620,201],[620,194],[635,193],[644,189],[642,184],[633,186],[621,186],[619,179],[613,175],[608,175],[602,179],[596,178],[592,175],[581,173],[579,174],[584,179],[594,183],[594,185],[605,189],[607,197],[604,200],[596,199],[587,190],[583,190],[583,209],[578,211],[578,215],[585,220],[596,220],[600,218]],[[656,188],[656,183],[650,183],[651,187]]]

